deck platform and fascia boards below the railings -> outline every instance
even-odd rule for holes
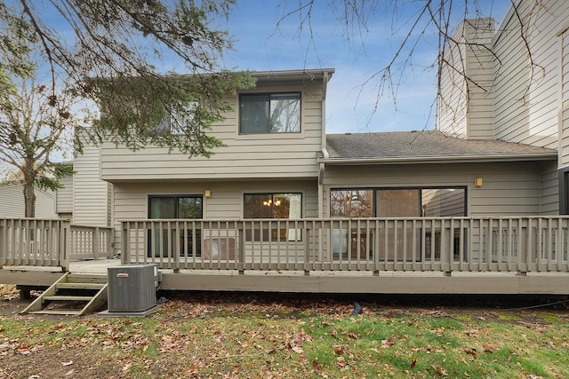
[[[107,274],[118,259],[72,262],[74,275]],[[338,294],[569,295],[569,273],[160,270],[166,290],[271,291]],[[0,282],[50,286],[60,272],[0,270]]]

